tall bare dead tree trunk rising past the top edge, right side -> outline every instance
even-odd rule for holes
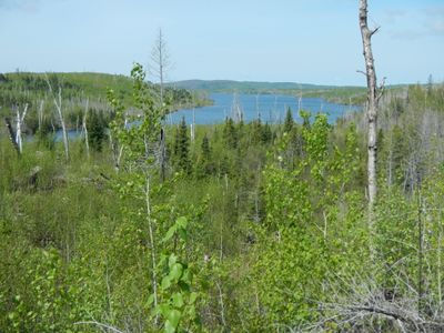
[[[365,77],[367,81],[367,103],[366,115],[369,124],[369,161],[367,161],[367,183],[369,183],[369,214],[370,223],[373,222],[373,208],[376,201],[377,184],[376,184],[376,161],[377,161],[377,109],[379,101],[382,95],[381,90],[377,89],[376,71],[374,67],[374,59],[372,52],[372,36],[379,28],[370,29],[367,24],[367,1],[360,0],[360,28],[363,43],[363,53],[365,59]]]

